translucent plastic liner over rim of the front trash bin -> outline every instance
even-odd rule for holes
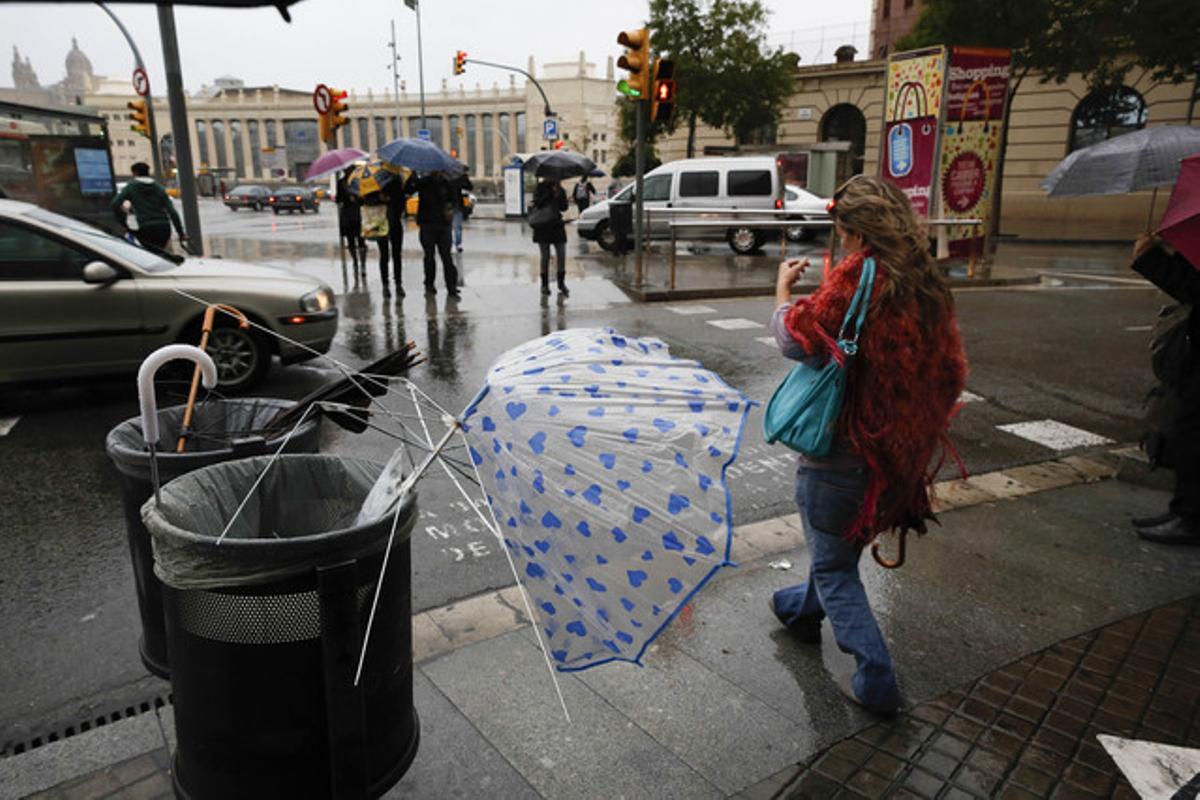
[[[217,539],[270,457],[214,464],[162,487],[142,519],[154,539],[155,575],[175,589],[217,589],[277,582],[314,567],[377,553],[390,525],[355,525],[362,500],[383,470],[356,458],[280,456]],[[397,541],[412,534],[406,515]]]

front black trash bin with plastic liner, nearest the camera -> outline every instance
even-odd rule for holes
[[[409,553],[416,497],[360,524],[380,465],[322,455],[270,461],[188,473],[162,488],[161,504],[142,509],[163,583],[175,790],[200,799],[378,796],[408,770],[419,740]]]

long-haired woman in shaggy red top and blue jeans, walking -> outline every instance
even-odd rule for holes
[[[868,257],[876,261],[875,285],[833,447],[821,458],[799,457],[796,503],[811,555],[808,581],[776,591],[770,608],[814,644],[828,616],[838,646],[857,666],[850,685],[839,687],[866,709],[892,714],[900,692],[858,560],[877,534],[925,533],[934,519],[929,487],[937,469],[930,462],[949,446],[966,357],[954,300],[904,193],[859,175],[834,193],[829,216],[847,255],[816,291],[792,303],[792,284],[809,261],[779,265],[772,331],[782,354],[822,363],[832,357]]]

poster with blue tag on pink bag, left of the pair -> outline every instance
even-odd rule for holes
[[[944,74],[942,47],[896,53],[888,59],[880,172],[908,196],[913,210],[924,218],[934,209]]]

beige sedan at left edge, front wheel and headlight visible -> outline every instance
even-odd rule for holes
[[[197,299],[229,303],[287,337],[218,315],[208,349],[226,392],[252,386],[272,356],[294,363],[326,353],[337,332],[334,291],[316,278],[226,259],[175,263],[78,219],[0,200],[0,384],[134,371],[163,344],[199,341],[205,302]]]

